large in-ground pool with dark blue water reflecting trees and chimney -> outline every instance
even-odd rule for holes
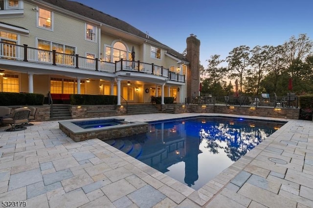
[[[106,142],[198,190],[284,124],[224,117],[186,118],[150,123],[145,134]]]

